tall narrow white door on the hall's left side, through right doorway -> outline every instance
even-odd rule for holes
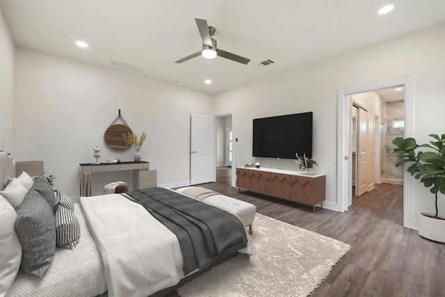
[[[358,114],[358,176],[357,176],[357,196],[368,191],[368,111],[359,109]]]

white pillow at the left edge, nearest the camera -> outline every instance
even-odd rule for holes
[[[15,210],[0,195],[0,296],[5,296],[13,284],[22,259],[22,245],[14,230],[15,218]]]

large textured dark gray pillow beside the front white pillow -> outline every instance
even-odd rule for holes
[[[16,209],[14,229],[22,243],[20,268],[42,278],[56,251],[54,214],[42,195],[32,188]]]

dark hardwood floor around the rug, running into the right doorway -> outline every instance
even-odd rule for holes
[[[403,186],[378,184],[353,198],[345,213],[318,207],[313,213],[311,206],[238,193],[230,180],[230,169],[218,168],[217,181],[200,186],[250,202],[260,214],[350,244],[313,296],[445,296],[445,244],[403,227]]]

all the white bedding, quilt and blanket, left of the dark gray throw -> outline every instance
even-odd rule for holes
[[[149,296],[184,278],[176,235],[140,204],[121,194],[81,197],[74,214],[76,248],[56,248],[41,280],[19,271],[6,297],[99,296],[107,289],[110,297]],[[251,254],[250,243],[240,252]]]

